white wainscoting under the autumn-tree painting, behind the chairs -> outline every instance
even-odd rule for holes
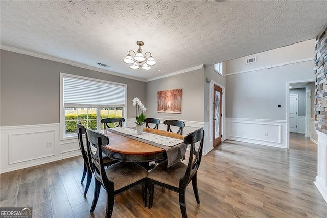
[[[166,119],[160,119],[159,129],[161,130],[167,130],[167,125],[164,124],[164,121]],[[126,119],[125,125],[127,127],[133,127],[135,126],[135,119],[129,118]],[[197,122],[197,121],[188,121],[188,120],[182,120],[185,123],[185,127],[183,128],[183,136],[188,135],[189,133],[193,132],[194,130],[197,130],[201,127],[204,129],[204,142],[203,142],[203,155],[206,155],[209,151],[211,151],[213,148],[209,145],[209,122]],[[151,127],[151,124],[149,125]],[[171,129],[175,132],[177,132],[178,127],[171,126]]]

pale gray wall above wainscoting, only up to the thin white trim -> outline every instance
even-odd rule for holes
[[[286,84],[314,79],[313,66],[306,61],[227,76],[226,117],[286,120]]]

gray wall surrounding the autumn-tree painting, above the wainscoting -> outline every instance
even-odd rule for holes
[[[203,122],[203,80],[204,69],[199,69],[175,76],[158,79],[146,83],[147,107],[146,116],[162,119],[177,119]],[[157,112],[158,91],[182,89],[181,114]]]

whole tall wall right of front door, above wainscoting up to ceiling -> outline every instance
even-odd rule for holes
[[[227,61],[226,117],[286,120],[287,82],[315,78],[314,47],[312,39]]]

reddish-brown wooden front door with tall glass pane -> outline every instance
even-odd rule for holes
[[[221,99],[222,99],[222,89],[217,86],[214,85],[214,147],[219,145],[221,142]]]

